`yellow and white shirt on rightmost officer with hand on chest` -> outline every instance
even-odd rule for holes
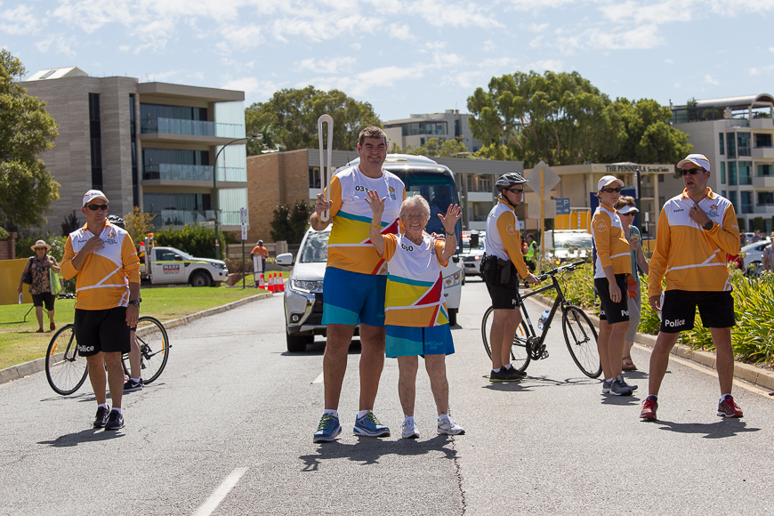
[[[739,254],[737,213],[730,200],[707,189],[698,207],[713,222],[705,231],[689,217],[695,206],[687,190],[666,201],[658,217],[656,251],[650,260],[648,295],[666,290],[722,292],[731,290],[726,254]]]

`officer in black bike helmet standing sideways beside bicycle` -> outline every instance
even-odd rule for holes
[[[504,173],[496,181],[499,192],[497,204],[487,217],[485,237],[487,257],[481,264],[481,276],[487,284],[492,299],[492,330],[489,343],[492,347],[492,372],[489,382],[513,382],[525,376],[511,365],[511,343],[516,328],[521,324],[521,299],[519,278],[536,284],[539,280],[531,274],[521,254],[519,219],[514,208],[524,198],[524,183],[520,173]]]

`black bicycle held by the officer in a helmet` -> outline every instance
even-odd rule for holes
[[[598,378],[602,374],[600,353],[597,350],[597,330],[593,327],[591,319],[588,318],[584,310],[565,300],[559,278],[557,278],[566,272],[581,268],[583,264],[584,262],[569,263],[544,272],[537,278],[541,281],[551,278],[552,284],[520,296],[521,324],[516,330],[511,346],[512,364],[518,371],[525,371],[531,360],[548,358],[548,351],[545,349],[545,336],[548,335],[548,327],[551,326],[553,316],[556,315],[558,309],[561,309],[561,329],[564,333],[564,340],[567,343],[570,356],[575,360],[577,367],[583,371],[584,375],[590,378]],[[556,299],[553,302],[548,318],[543,323],[543,333],[537,336],[535,329],[532,327],[532,320],[529,318],[524,300],[552,288],[556,289]],[[484,349],[487,350],[489,359],[492,358],[492,351],[489,349],[489,335],[492,329],[492,319],[494,318],[493,312],[494,309],[489,307],[481,321],[481,336],[484,339]]]

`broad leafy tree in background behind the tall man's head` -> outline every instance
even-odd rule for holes
[[[245,110],[247,133],[264,135],[262,146],[249,146],[248,151],[275,149],[277,144],[286,150],[316,149],[317,121],[325,113],[334,117],[333,148],[337,150],[354,150],[360,130],[367,125],[382,126],[371,104],[356,101],[338,90],[323,92],[314,86],[285,89],[274,93],[269,101],[256,102]]]

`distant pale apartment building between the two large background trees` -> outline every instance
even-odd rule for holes
[[[443,141],[458,138],[465,144],[468,152],[476,152],[481,142],[473,139],[468,119],[471,115],[460,114],[458,109],[447,109],[443,113],[411,115],[401,120],[384,123],[388,148],[397,143],[402,149],[424,147],[431,138]]]

